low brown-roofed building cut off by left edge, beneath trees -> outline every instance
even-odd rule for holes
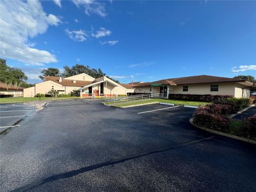
[[[0,83],[0,97],[22,97],[23,89],[23,87],[7,86]]]

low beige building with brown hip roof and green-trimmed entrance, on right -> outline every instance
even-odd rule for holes
[[[233,95],[236,98],[249,98],[251,86],[254,86],[254,83],[243,79],[209,75],[169,78],[134,85],[135,93],[160,93],[166,98],[172,93]]]

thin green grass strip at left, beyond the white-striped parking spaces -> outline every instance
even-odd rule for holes
[[[54,97],[54,98],[42,97],[41,101],[45,99],[51,100],[51,99],[71,99],[71,98],[79,98],[79,97]],[[0,103],[17,103],[17,102],[28,102],[28,101],[39,101],[39,98],[36,98],[36,97],[0,98]]]

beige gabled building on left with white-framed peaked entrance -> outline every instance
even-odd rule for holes
[[[46,76],[45,81],[24,89],[24,97],[35,97],[37,93],[46,94],[50,90],[57,90],[60,94],[68,94],[73,90],[80,90],[82,97],[114,97],[134,92],[131,84],[118,84],[107,77],[93,78],[85,73],[71,77]]]

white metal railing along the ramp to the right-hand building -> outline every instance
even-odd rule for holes
[[[143,99],[151,99],[151,98],[157,98],[160,97],[160,93],[154,93],[154,94],[139,94],[139,95],[130,95],[125,97],[118,97],[118,98],[111,98],[111,99],[105,99],[105,102],[107,104],[116,104],[116,103],[123,103],[123,102],[135,102],[137,100],[143,100]]]

